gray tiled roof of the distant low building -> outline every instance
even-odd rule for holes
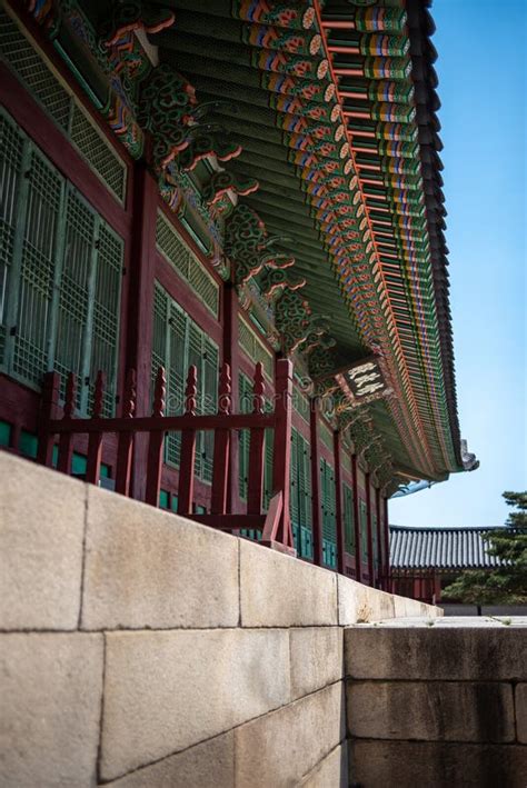
[[[483,569],[499,566],[501,561],[487,553],[483,539],[483,535],[491,530],[488,527],[390,526],[390,565],[398,569]]]

